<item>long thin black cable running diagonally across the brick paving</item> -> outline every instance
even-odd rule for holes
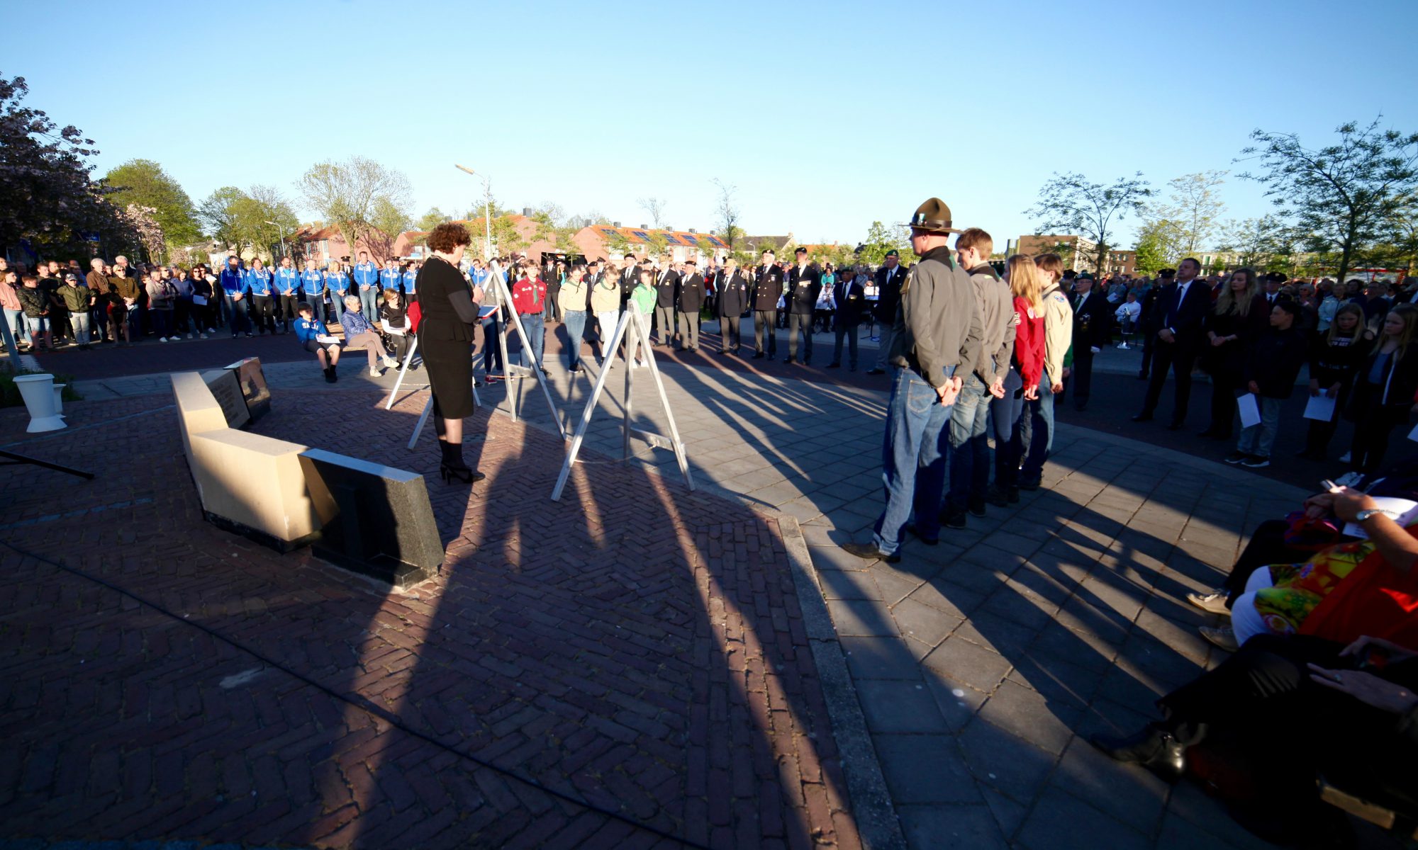
[[[54,567],[55,570],[62,570],[64,572],[68,572],[71,575],[77,575],[77,577],[79,577],[82,579],[86,579],[86,581],[91,581],[91,582],[94,582],[96,585],[105,586],[105,588],[113,591],[115,594],[118,594],[121,596],[128,596],[129,599],[133,599],[139,605],[146,605],[147,608],[152,608],[153,611],[156,611],[156,612],[162,613],[163,616],[167,616],[167,618],[170,618],[173,620],[177,620],[179,623],[183,623],[186,626],[191,626],[194,629],[206,632],[207,635],[216,638],[217,640],[221,640],[223,643],[227,643],[228,646],[233,646],[233,647],[235,647],[235,649],[247,653],[248,656],[257,659],[258,662],[261,662],[267,667],[272,667],[275,670],[279,670],[279,672],[285,673],[286,676],[292,676],[292,677],[298,679],[299,681],[303,681],[305,684],[313,687],[315,690],[318,690],[318,691],[320,691],[323,694],[328,694],[328,696],[330,696],[330,697],[333,697],[333,698],[336,698],[336,700],[339,700],[342,703],[353,706],[354,708],[359,708],[360,711],[373,714],[374,717],[379,717],[379,718],[384,720],[386,722],[389,722],[391,727],[397,728],[398,731],[401,731],[404,734],[408,734],[408,735],[413,735],[413,737],[418,738],[420,741],[425,741],[428,744],[432,744],[434,747],[437,747],[437,748],[440,748],[440,749],[442,749],[445,752],[451,752],[451,754],[457,755],[458,758],[467,759],[467,761],[478,765],[479,768],[485,768],[485,769],[492,771],[492,772],[495,772],[498,775],[506,776],[508,779],[512,779],[515,782],[520,782],[522,785],[526,785],[527,788],[533,788],[536,790],[540,790],[542,793],[545,793],[547,796],[556,798],[559,800],[564,800],[564,802],[571,803],[574,806],[580,806],[580,808],[583,808],[583,809],[586,809],[588,812],[596,812],[597,815],[603,815],[603,816],[605,816],[605,817],[608,817],[611,820],[618,820],[618,822],[621,822],[621,823],[624,823],[627,826],[631,826],[631,827],[638,829],[638,830],[648,832],[648,833],[651,833],[654,836],[658,836],[661,839],[666,839],[666,840],[675,842],[675,843],[682,844],[685,847],[692,847],[693,850],[709,850],[709,847],[705,846],[705,844],[695,844],[693,842],[689,842],[689,840],[686,840],[686,839],[683,839],[681,836],[671,834],[671,833],[668,833],[668,832],[665,832],[665,830],[662,830],[659,827],[649,826],[648,823],[641,823],[640,820],[635,820],[634,817],[627,817],[625,815],[621,815],[620,812],[611,812],[608,809],[603,809],[600,806],[588,803],[588,802],[586,802],[583,799],[577,799],[577,798],[574,798],[574,796],[571,796],[569,793],[564,793],[564,792],[547,788],[547,786],[542,785],[540,782],[537,782],[536,779],[533,779],[530,776],[523,776],[522,774],[518,774],[516,771],[510,771],[508,768],[501,768],[501,766],[498,766],[498,765],[495,765],[492,762],[488,762],[488,761],[484,761],[484,759],[478,758],[476,755],[464,752],[464,751],[461,751],[461,749],[458,749],[455,747],[450,747],[450,745],[444,744],[442,741],[434,738],[432,735],[430,735],[427,732],[423,732],[423,731],[418,731],[415,728],[411,728],[411,727],[406,725],[404,721],[397,714],[393,714],[391,711],[389,711],[386,708],[381,708],[380,706],[376,706],[374,703],[372,703],[369,698],[366,698],[363,696],[359,696],[359,694],[345,694],[345,693],[336,691],[335,688],[332,688],[329,686],[325,686],[325,684],[322,684],[322,683],[319,683],[319,681],[316,681],[316,680],[305,676],[303,673],[292,670],[291,667],[286,667],[285,664],[282,664],[282,663],[279,663],[279,662],[277,662],[274,659],[267,657],[265,654],[262,654],[262,653],[251,649],[250,646],[245,646],[242,643],[238,643],[238,642],[233,640],[231,638],[227,638],[225,635],[223,635],[221,632],[217,632],[216,629],[213,629],[210,626],[206,626],[206,625],[203,625],[200,622],[194,622],[191,619],[179,616],[177,613],[174,613],[174,612],[163,608],[162,605],[159,605],[156,602],[152,602],[152,601],[149,601],[149,599],[146,599],[143,596],[139,596],[138,594],[135,594],[135,592],[132,592],[132,591],[129,591],[126,588],[115,585],[113,582],[111,582],[111,581],[108,581],[105,578],[101,578],[98,575],[91,575],[91,574],[88,574],[88,572],[85,572],[82,570],[78,570],[75,567],[69,567],[67,564],[60,564],[57,561],[51,561],[50,558],[45,558],[44,555],[37,555],[34,552],[26,551],[23,548],[14,545],[9,540],[0,540],[0,545],[9,548],[10,551],[13,551],[16,554],[18,554],[20,557],[34,558],[35,561],[40,561],[41,564],[48,564],[50,567]]]

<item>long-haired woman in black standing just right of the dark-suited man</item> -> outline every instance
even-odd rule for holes
[[[1207,314],[1201,368],[1211,375],[1211,425],[1201,436],[1228,439],[1236,415],[1236,392],[1245,377],[1252,340],[1271,323],[1271,305],[1251,269],[1236,269],[1221,285],[1221,295]]]

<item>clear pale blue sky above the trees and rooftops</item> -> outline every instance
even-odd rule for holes
[[[1418,3],[10,3],[0,72],[94,137],[98,173],[162,163],[200,201],[363,154],[410,212],[510,207],[625,224],[637,198],[715,225],[859,239],[939,196],[997,244],[1055,170],[1154,186],[1231,163],[1255,128],[1320,143],[1378,112],[1418,129]],[[64,38],[72,44],[65,48]],[[89,41],[91,45],[81,42]],[[96,62],[91,64],[91,60]],[[844,129],[847,128],[847,129]],[[1232,217],[1269,208],[1222,187]],[[302,210],[313,218],[313,212]]]

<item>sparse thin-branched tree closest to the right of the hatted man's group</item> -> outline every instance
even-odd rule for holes
[[[1042,188],[1034,207],[1024,211],[1039,221],[1038,232],[1068,232],[1093,242],[1089,258],[1095,269],[1107,268],[1113,249],[1113,230],[1129,212],[1141,214],[1151,196],[1147,181],[1137,171],[1110,184],[1093,183],[1079,173],[1055,173]]]

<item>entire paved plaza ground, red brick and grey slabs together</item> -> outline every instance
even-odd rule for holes
[[[489,477],[430,475],[410,592],[201,521],[164,375],[81,381],[57,434],[0,412],[98,473],[0,469],[0,847],[1269,846],[1082,735],[1217,663],[1183,595],[1299,489],[1065,425],[1038,493],[869,564],[835,544],[881,509],[882,391],[662,371],[698,492],[614,462],[623,367],[560,503],[540,394],[484,388]],[[393,374],[267,377],[255,431],[434,469],[421,373],[387,412]],[[664,429],[645,370],[634,411]]]

